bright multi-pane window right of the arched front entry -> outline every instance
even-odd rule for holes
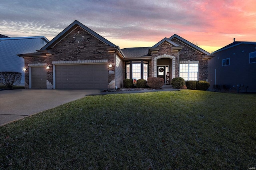
[[[180,77],[185,81],[198,81],[198,63],[180,64]]]

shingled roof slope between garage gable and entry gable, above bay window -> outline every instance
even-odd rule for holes
[[[148,49],[150,47],[134,47],[121,49],[126,58],[138,58],[148,56]]]

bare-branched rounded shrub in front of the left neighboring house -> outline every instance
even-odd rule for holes
[[[20,84],[21,73],[14,71],[0,72],[0,84],[12,89],[12,86]]]

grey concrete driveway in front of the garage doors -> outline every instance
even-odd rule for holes
[[[80,99],[99,89],[19,89],[0,91],[0,125]]]

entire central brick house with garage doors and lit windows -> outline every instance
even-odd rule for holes
[[[124,79],[206,80],[212,55],[174,34],[153,47],[120,49],[77,20],[25,59],[25,87],[114,89]],[[180,68],[180,69],[179,69]]]

